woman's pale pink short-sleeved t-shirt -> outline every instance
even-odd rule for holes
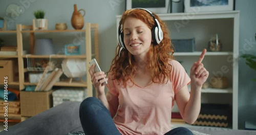
[[[108,91],[119,99],[114,122],[121,134],[164,134],[171,129],[174,96],[190,83],[183,66],[170,60],[172,73],[167,83],[151,83],[146,87],[127,81],[126,87],[109,80]]]

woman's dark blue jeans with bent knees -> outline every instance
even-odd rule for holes
[[[79,117],[83,131],[86,135],[120,135],[110,111],[94,97],[86,98],[80,104]],[[193,133],[184,127],[177,127],[168,131],[164,135],[193,135]]]

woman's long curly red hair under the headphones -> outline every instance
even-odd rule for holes
[[[170,65],[168,60],[174,59],[174,49],[171,46],[169,31],[165,23],[155,13],[155,18],[159,21],[159,24],[163,31],[163,40],[157,44],[157,46],[151,44],[150,50],[147,53],[147,65],[146,68],[152,70],[152,81],[164,83],[170,76]],[[148,28],[152,29],[155,24],[155,20],[150,13],[142,9],[126,10],[119,22],[119,28],[124,24],[124,21],[128,17],[138,18],[143,21]],[[110,76],[112,80],[122,82],[126,86],[127,80],[133,82],[132,76],[136,74],[136,62],[134,56],[126,49],[121,49],[120,46],[116,48],[116,55],[112,60],[110,66]],[[167,82],[167,81],[166,81]]]

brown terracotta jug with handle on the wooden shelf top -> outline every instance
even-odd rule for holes
[[[83,15],[80,13],[83,11]],[[76,30],[81,30],[84,25],[83,16],[86,15],[86,11],[83,9],[77,10],[76,4],[74,5],[74,12],[71,18],[72,27]]]

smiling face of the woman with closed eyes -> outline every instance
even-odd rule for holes
[[[140,19],[128,17],[123,24],[124,44],[133,55],[145,56],[152,43],[152,32]]]

